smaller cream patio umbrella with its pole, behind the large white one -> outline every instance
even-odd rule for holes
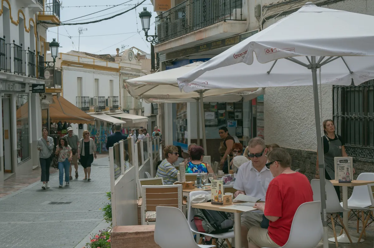
[[[192,90],[188,93],[181,92],[178,88],[177,78],[193,70],[194,68],[197,68],[202,64],[203,62],[195,62],[186,66],[181,66],[179,68],[156,72],[145,76],[141,76],[139,78],[129,79],[126,80],[125,85],[123,85],[123,87],[130,93],[132,97],[143,98],[148,102],[157,101],[158,103],[181,103],[188,101],[200,101],[200,111],[199,104],[197,104],[197,113],[200,112],[200,118],[202,120],[201,125],[203,147],[204,150],[207,151],[204,120],[205,116],[203,111],[204,98],[209,97],[212,101],[212,99],[217,99],[217,97],[219,96],[219,101],[235,102],[240,101],[243,98],[248,100],[250,97],[257,97],[257,94],[261,92],[263,93],[263,90],[259,90],[258,87],[212,90],[201,90],[199,88],[197,91]],[[204,84],[204,82],[199,82],[199,85],[202,84]],[[216,98],[213,98],[214,96],[216,96]],[[197,118],[197,122],[200,122],[199,117]],[[197,129],[197,142],[198,144],[200,142],[200,128]]]

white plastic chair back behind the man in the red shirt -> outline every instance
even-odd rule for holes
[[[303,203],[296,210],[288,241],[282,248],[314,248],[322,235],[321,202]]]

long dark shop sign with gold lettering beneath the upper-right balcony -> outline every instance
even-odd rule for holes
[[[163,54],[160,56],[160,62],[164,62],[166,60],[171,60],[171,59],[177,59],[180,57],[190,56],[190,55],[205,52],[205,51],[211,51],[211,50],[218,49],[218,48],[231,47],[233,45],[240,43],[246,38],[251,37],[254,34],[257,34],[258,32],[259,30],[256,29],[253,31],[227,37],[221,40],[216,40],[216,41],[196,45],[194,47],[186,48],[183,50],[175,51],[172,53]]]

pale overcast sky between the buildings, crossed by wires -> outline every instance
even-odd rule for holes
[[[112,7],[103,6],[105,4],[117,5],[124,3],[123,5],[113,7],[111,9],[93,15],[75,19],[67,23],[94,21],[113,16],[117,13],[125,11],[126,9],[130,9],[136,6],[137,3],[141,2],[141,0],[127,0],[127,2],[125,2],[125,0],[63,0],[62,8],[60,9],[60,20],[64,22]],[[125,49],[135,46],[140,50],[149,53],[150,43],[145,40],[144,31],[142,31],[142,26],[139,18],[139,13],[143,10],[143,7],[147,7],[147,10],[152,12],[151,29],[149,31],[149,34],[153,35],[155,26],[154,18],[156,16],[156,12],[153,12],[151,1],[146,0],[136,9],[130,10],[129,12],[110,20],[85,25],[63,25],[55,28],[49,28],[49,32],[47,31],[47,41],[52,41],[52,38],[57,38],[58,32],[58,42],[60,43],[60,46],[62,46],[61,48],[59,48],[60,52],[66,53],[70,50],[78,50],[78,28],[82,27],[87,28],[87,31],[83,31],[83,34],[80,36],[80,51],[95,54],[116,54],[116,48],[120,48],[121,51],[121,47],[122,45],[124,45],[126,46]],[[138,33],[138,31],[140,31],[140,34]],[[69,36],[71,38],[69,38]]]

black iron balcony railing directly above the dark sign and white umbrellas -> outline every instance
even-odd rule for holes
[[[242,7],[242,0],[186,0],[156,16],[157,43],[222,21],[245,21]]]

